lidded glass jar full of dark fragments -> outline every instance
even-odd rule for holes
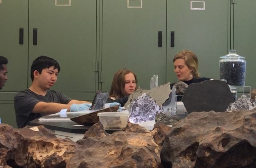
[[[236,50],[230,50],[225,56],[220,57],[220,79],[227,81],[231,86],[245,85],[246,60],[236,54]]]

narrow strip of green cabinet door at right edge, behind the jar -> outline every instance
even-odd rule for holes
[[[246,58],[246,86],[256,88],[256,1],[236,0],[234,4],[234,49]]]

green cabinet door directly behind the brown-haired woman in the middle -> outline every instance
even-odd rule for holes
[[[158,31],[162,31],[162,47],[158,46]],[[140,0],[102,0],[102,90],[110,90],[120,68],[134,71],[141,88],[149,89],[154,74],[158,74],[159,85],[164,84],[165,31],[166,0],[143,4]]]

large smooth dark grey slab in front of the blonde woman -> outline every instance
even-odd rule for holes
[[[190,84],[181,101],[189,114],[211,110],[224,112],[234,98],[226,82],[206,80]]]

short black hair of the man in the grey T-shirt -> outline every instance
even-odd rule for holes
[[[58,69],[58,72],[60,72],[60,65],[59,63],[54,60],[53,58],[50,58],[48,56],[39,56],[36,58],[30,69],[30,78],[33,81],[34,80],[34,71],[37,70],[39,74],[42,73],[42,70],[45,68],[50,68],[51,66],[54,67],[54,69]]]

